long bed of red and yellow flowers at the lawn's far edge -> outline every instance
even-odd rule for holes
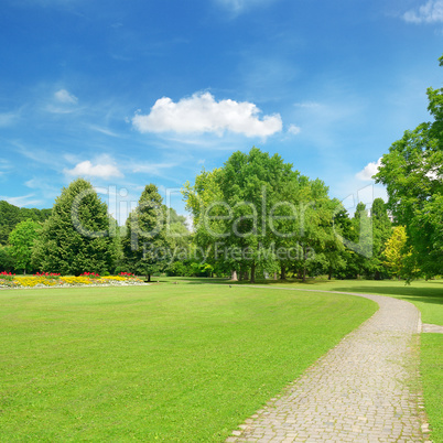
[[[0,273],[0,288],[43,288],[43,287],[83,287],[83,285],[128,285],[141,284],[142,280],[136,275],[121,272],[119,275],[100,277],[94,272],[84,272],[82,275],[65,275],[42,272],[33,275],[15,275]]]

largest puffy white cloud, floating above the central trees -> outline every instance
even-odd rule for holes
[[[140,132],[203,133],[224,131],[247,137],[269,137],[282,130],[280,115],[263,116],[260,109],[248,101],[216,101],[209,93],[196,93],[190,98],[174,102],[169,97],[160,98],[150,114],[136,114],[133,127]]]

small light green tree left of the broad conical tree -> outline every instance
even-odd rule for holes
[[[11,253],[15,259],[15,269],[23,270],[23,273],[31,271],[32,250],[40,230],[41,225],[29,219],[20,222],[9,235]]]

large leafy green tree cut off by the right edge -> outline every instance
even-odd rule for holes
[[[443,88],[429,88],[428,100],[433,121],[406,131],[375,175],[387,186],[396,223],[406,226],[409,279],[443,273]]]

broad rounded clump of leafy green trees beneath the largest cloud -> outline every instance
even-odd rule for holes
[[[224,168],[203,171],[183,195],[194,216],[194,241],[223,273],[343,266],[333,228],[338,202],[320,180],[310,181],[257,148],[234,152]],[[317,256],[317,259],[315,257]],[[322,257],[320,256],[322,255]],[[320,263],[322,263],[320,266]],[[316,271],[315,271],[316,272]]]

